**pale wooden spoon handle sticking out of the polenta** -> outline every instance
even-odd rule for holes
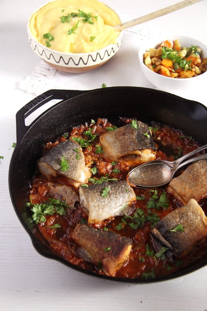
[[[135,26],[135,25],[138,25],[138,24],[142,24],[142,23],[144,23],[146,21],[150,21],[150,20],[152,20],[152,19],[154,19],[156,17],[159,17],[159,16],[162,16],[162,15],[165,15],[165,14],[177,11],[179,9],[182,9],[183,7],[188,7],[189,5],[197,3],[197,2],[200,2],[200,1],[202,1],[202,0],[184,0],[182,2],[178,2],[176,4],[173,4],[173,5],[169,6],[169,7],[165,7],[164,9],[161,9],[161,10],[152,12],[150,14],[147,14],[147,15],[135,18],[132,21],[127,21],[126,23],[123,23],[123,24],[120,24],[120,25],[116,25],[116,26],[114,26],[114,29],[116,31],[121,31],[121,30],[124,30],[126,28],[129,28],[129,27],[132,27],[132,26]]]

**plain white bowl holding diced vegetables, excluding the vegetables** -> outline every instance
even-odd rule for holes
[[[159,44],[161,44],[165,40],[176,40],[179,39],[179,43],[181,47],[189,47],[191,45],[196,45],[201,49],[201,58],[207,57],[207,46],[203,44],[202,42],[198,41],[197,39],[190,38],[187,36],[182,35],[161,35],[156,38],[149,39],[143,43],[141,46],[138,58],[139,63],[142,69],[142,72],[144,73],[145,77],[148,81],[151,82],[155,87],[162,91],[166,92],[176,92],[176,91],[184,91],[190,88],[195,88],[197,90],[197,87],[203,84],[203,82],[207,78],[207,71],[200,74],[199,76],[192,77],[192,78],[185,78],[185,79],[176,79],[176,78],[170,78],[162,76],[156,72],[153,72],[149,68],[146,67],[146,65],[143,62],[143,55],[144,53],[149,50],[150,48],[156,48]]]

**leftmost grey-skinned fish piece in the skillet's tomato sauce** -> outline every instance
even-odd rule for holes
[[[63,157],[69,165],[65,171],[61,170]],[[38,161],[38,169],[47,179],[56,177],[58,174],[63,175],[74,187],[78,187],[81,183],[87,183],[91,176],[90,169],[85,166],[85,158],[80,145],[71,140],[60,142],[52,148]]]

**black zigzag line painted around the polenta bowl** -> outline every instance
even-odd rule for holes
[[[111,53],[115,53],[115,52],[116,52],[116,49],[119,49],[119,46],[120,46],[119,43],[117,43],[116,46],[115,46],[115,49],[114,49],[113,47],[111,48],[110,53],[108,53],[108,51],[106,50],[103,57],[101,57],[100,53],[98,52],[98,53],[96,54],[95,59],[93,59],[92,55],[89,54],[86,62],[84,62],[84,61],[83,61],[83,58],[80,57],[78,63],[75,63],[72,57],[69,58],[68,62],[65,62],[65,60],[64,60],[64,58],[63,58],[62,56],[60,56],[59,60],[56,60],[55,57],[54,57],[54,55],[53,55],[52,53],[50,53],[49,57],[47,57],[47,55],[46,55],[46,53],[45,53],[45,50],[43,49],[43,51],[42,51],[42,53],[41,53],[41,52],[38,50],[38,46],[37,46],[36,44],[35,44],[35,46],[33,45],[31,39],[30,39],[30,45],[32,46],[32,48],[34,49],[34,51],[37,50],[40,56],[43,56],[43,54],[44,54],[45,57],[46,57],[48,60],[50,60],[50,58],[53,58],[54,61],[55,61],[57,64],[59,64],[60,61],[61,61],[61,59],[62,59],[63,62],[65,63],[65,65],[68,65],[69,62],[70,62],[70,60],[71,60],[71,61],[74,63],[75,66],[79,66],[79,63],[80,63],[81,61],[83,62],[84,65],[87,65],[89,58],[91,58],[92,61],[95,63],[98,56],[100,57],[101,60],[103,60],[103,59],[105,58],[105,55],[106,55],[106,54],[108,54],[108,57],[110,57]]]

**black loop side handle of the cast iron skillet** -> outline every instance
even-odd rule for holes
[[[88,91],[79,91],[79,90],[48,90],[41,95],[38,95],[25,106],[23,106],[16,113],[16,143],[17,145],[24,137],[26,132],[31,127],[32,123],[29,126],[25,125],[25,118],[28,117],[32,112],[37,110],[39,107],[48,103],[53,99],[68,100],[75,96],[87,93]]]

